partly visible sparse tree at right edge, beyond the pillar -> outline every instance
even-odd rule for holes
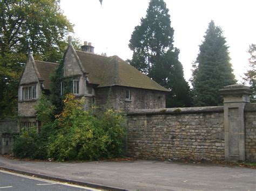
[[[256,45],[252,44],[250,45],[250,48],[248,50],[248,53],[250,54],[250,58],[249,58],[249,66],[250,69],[247,70],[247,72],[245,73],[245,77],[243,78],[245,80],[245,82],[247,82],[248,84],[250,84],[251,89],[253,90],[253,95],[251,96],[251,102],[255,102],[256,101],[256,87],[255,87],[255,83],[256,83]]]

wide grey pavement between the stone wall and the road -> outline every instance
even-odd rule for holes
[[[256,190],[256,169],[172,161],[22,161],[0,168],[107,190]]]

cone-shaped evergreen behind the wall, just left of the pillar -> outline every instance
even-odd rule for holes
[[[219,26],[215,26],[213,20],[209,23],[204,38],[193,65],[191,82],[194,105],[221,105],[223,98],[218,90],[236,82],[228,46],[223,31]]]

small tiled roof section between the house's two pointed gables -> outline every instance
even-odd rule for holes
[[[39,73],[39,80],[43,81],[44,89],[50,89],[50,75],[54,72],[57,68],[57,63],[52,62],[45,62],[45,61],[38,61],[35,60],[36,67]]]

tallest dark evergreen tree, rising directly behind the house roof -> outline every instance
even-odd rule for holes
[[[128,62],[171,90],[166,99],[167,107],[187,107],[191,104],[190,87],[178,60],[179,49],[173,46],[173,33],[165,2],[151,0],[146,17],[132,33],[129,47],[133,56]]]

